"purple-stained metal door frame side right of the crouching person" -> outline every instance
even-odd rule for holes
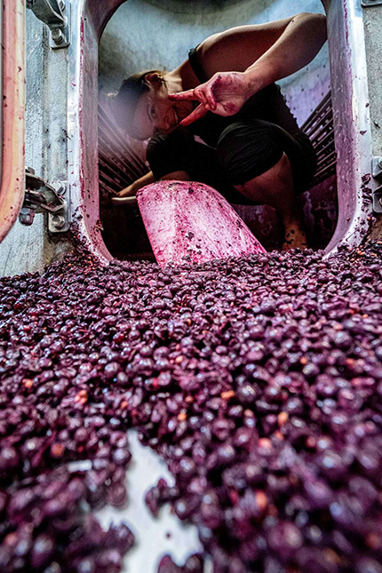
[[[359,0],[323,3],[328,19],[330,83],[337,150],[338,225],[326,252],[357,245],[370,227],[371,135],[362,7]],[[372,185],[372,183],[371,183]]]

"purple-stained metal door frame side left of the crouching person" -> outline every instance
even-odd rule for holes
[[[101,235],[98,174],[98,42],[122,0],[80,0],[72,7],[68,48],[68,180],[79,239],[103,263],[113,259]]]

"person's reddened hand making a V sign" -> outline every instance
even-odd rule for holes
[[[172,101],[198,99],[201,103],[180,125],[189,125],[211,111],[217,115],[235,115],[252,95],[247,76],[242,72],[218,72],[194,90],[169,94]]]

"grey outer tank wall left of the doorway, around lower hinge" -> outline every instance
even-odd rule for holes
[[[44,24],[27,11],[26,164],[50,181],[67,179],[67,51],[52,51]],[[53,81],[52,81],[53,80]],[[31,227],[19,221],[0,244],[0,276],[41,271],[68,251],[50,238],[44,215]]]

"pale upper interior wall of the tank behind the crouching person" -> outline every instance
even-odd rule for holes
[[[118,89],[124,77],[147,68],[171,69],[211,34],[243,24],[286,18],[298,12],[324,13],[320,0],[187,2],[129,0],[109,20],[99,43],[99,88]],[[298,122],[330,87],[327,44],[307,67],[279,82]]]

